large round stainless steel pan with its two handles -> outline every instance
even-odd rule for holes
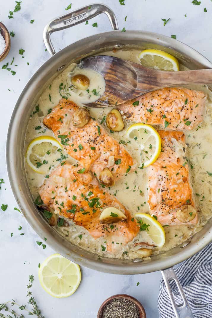
[[[114,31],[84,38],[55,53],[50,39],[52,32],[85,22],[100,13],[105,13],[109,17]],[[199,252],[211,241],[212,219],[187,242],[168,252],[154,255],[151,260],[135,262],[106,257],[99,259],[97,255],[82,250],[60,236],[38,213],[25,175],[24,137],[30,114],[42,90],[68,64],[78,62],[82,57],[91,56],[114,47],[139,48],[141,50],[145,48],[157,48],[171,53],[177,57],[181,64],[190,69],[212,68],[212,63],[191,47],[175,39],[151,32],[118,31],[118,24],[114,13],[103,4],[91,4],[50,21],[44,29],[44,43],[52,57],[40,67],[25,86],[14,108],[7,135],[6,156],[8,175],[13,194],[23,215],[40,237],[48,239],[48,244],[55,251],[83,266],[102,272],[117,274],[140,274],[162,270],[176,317],[193,317],[172,266]],[[169,287],[170,280],[175,280],[179,288],[182,296],[182,304],[180,306],[176,305],[173,300]]]

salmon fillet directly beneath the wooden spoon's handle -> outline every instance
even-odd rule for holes
[[[118,109],[131,121],[161,125],[169,130],[190,130],[203,120],[206,99],[201,91],[166,87],[127,101]]]

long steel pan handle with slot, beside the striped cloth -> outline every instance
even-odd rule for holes
[[[191,308],[189,306],[189,303],[186,299],[186,295],[184,294],[180,281],[175,273],[174,267],[161,270],[161,273],[162,273],[162,276],[166,285],[166,289],[167,289],[170,301],[172,303],[172,307],[173,307],[176,318],[194,318]],[[180,305],[177,305],[174,301],[172,290],[169,285],[169,282],[171,280],[175,281],[177,288],[180,292],[180,296],[182,298],[182,303]]]

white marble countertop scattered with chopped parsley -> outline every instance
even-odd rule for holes
[[[5,164],[7,128],[22,89],[38,68],[49,59],[43,44],[43,28],[50,19],[67,13],[65,8],[69,1],[71,2],[71,0],[22,0],[21,10],[14,13],[13,19],[9,19],[8,15],[9,10],[14,10],[16,3],[7,0],[2,1],[4,4],[1,4],[0,21],[9,31],[14,30],[15,36],[11,38],[9,55],[0,62],[0,178],[4,178],[5,182],[1,184],[0,205],[8,204],[6,211],[0,209],[0,303],[13,298],[19,304],[25,304],[28,276],[33,274],[35,277],[33,295],[45,317],[95,318],[99,306],[107,297],[126,293],[141,301],[148,318],[156,318],[159,316],[157,297],[160,272],[121,276],[81,267],[82,280],[75,294],[65,299],[54,299],[46,294],[39,284],[38,263],[42,263],[54,251],[48,246],[48,242],[46,249],[37,245],[36,241],[40,240],[38,235],[22,215],[14,211],[17,204],[10,188]],[[89,3],[89,0],[73,0],[71,10]],[[102,0],[102,3],[114,10],[121,30],[125,27],[126,30],[146,30],[167,36],[174,34],[178,40],[212,60],[211,1],[202,0],[198,6],[193,5],[192,0],[125,0],[125,5],[120,5],[118,0]],[[207,12],[204,12],[205,7]],[[126,22],[125,16],[127,16]],[[170,21],[164,26],[161,18],[169,17]],[[30,23],[32,19],[34,19],[33,24]],[[98,28],[93,28],[89,23],[54,34],[52,38],[56,51],[94,33],[111,30],[106,16],[95,17],[93,22],[98,22]],[[25,50],[24,58],[19,55],[20,48]],[[8,67],[16,71],[14,76],[10,71],[2,69],[7,62],[11,63],[13,57],[12,66]],[[19,225],[22,226],[21,231],[18,230]],[[24,235],[20,235],[21,233]],[[137,282],[140,282],[138,287]]]

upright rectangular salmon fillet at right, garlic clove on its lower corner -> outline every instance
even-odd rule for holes
[[[148,204],[150,213],[156,215],[162,225],[182,224],[176,218],[177,209],[194,206],[193,190],[189,179],[185,153],[185,135],[180,131],[158,131],[161,137],[161,153],[148,167]],[[196,224],[195,218],[183,224]]]

